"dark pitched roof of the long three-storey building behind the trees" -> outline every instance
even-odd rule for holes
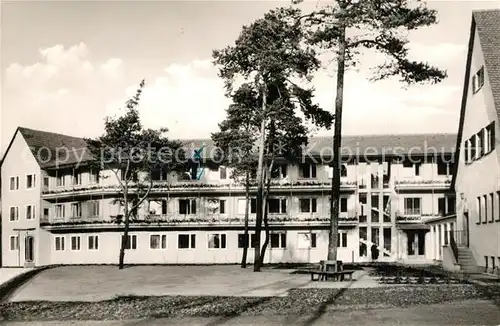
[[[22,134],[41,168],[84,163],[91,158],[83,138],[23,127],[19,127],[17,132]],[[344,155],[367,156],[401,155],[410,151],[413,155],[452,154],[455,140],[454,134],[344,136],[342,152]],[[181,142],[190,157],[201,147],[203,147],[200,151],[202,158],[210,158],[214,154],[215,146],[211,139],[185,139]],[[328,156],[331,148],[331,137],[313,137],[309,141],[307,150],[314,156],[320,154]],[[9,148],[5,155],[8,150]]]

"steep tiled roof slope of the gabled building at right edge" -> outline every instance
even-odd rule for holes
[[[472,13],[500,121],[500,9]]]

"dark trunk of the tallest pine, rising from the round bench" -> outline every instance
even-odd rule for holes
[[[346,54],[346,27],[341,22],[339,36],[339,53],[337,58],[337,96],[335,98],[335,126],[333,135],[333,176],[332,194],[330,198],[330,235],[328,238],[328,260],[337,261],[337,238],[339,232],[339,198],[340,198],[340,146],[342,143],[342,104],[344,95],[344,73]],[[335,269],[337,264],[335,263]]]

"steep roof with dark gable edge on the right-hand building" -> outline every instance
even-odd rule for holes
[[[460,159],[460,143],[462,142],[463,127],[465,120],[465,109],[467,107],[467,96],[471,78],[471,62],[474,50],[475,32],[479,36],[479,43],[483,51],[488,81],[493,95],[493,102],[500,122],[500,10],[480,10],[472,12],[472,21],[469,35],[469,47],[467,61],[465,64],[464,87],[462,103],[460,108],[460,119],[458,122],[458,135],[456,140],[455,162]],[[455,187],[458,164],[455,165],[452,188]]]

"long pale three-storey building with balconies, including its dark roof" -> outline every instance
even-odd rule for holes
[[[450,190],[455,142],[456,135],[438,134],[344,137],[339,260],[441,259],[444,227],[427,222],[455,214]],[[123,230],[118,222],[123,208],[115,201],[117,176],[93,172],[85,146],[80,138],[17,129],[1,166],[4,266],[117,263]],[[210,161],[210,141],[186,146],[205,146]],[[331,140],[313,138],[301,163],[277,164],[266,263],[326,258],[332,169],[325,152],[331,153]],[[243,185],[230,172],[201,164],[191,173],[194,178],[153,175],[150,196],[130,224],[125,262],[239,263],[246,200]],[[253,238],[254,199],[250,211]],[[372,254],[374,248],[378,255]],[[250,248],[249,262],[253,254]]]

